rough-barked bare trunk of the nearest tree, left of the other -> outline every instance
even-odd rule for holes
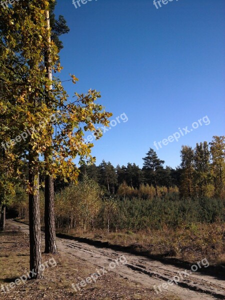
[[[41,237],[40,237],[40,206],[39,206],[39,174],[38,169],[31,166],[29,159],[29,184],[32,192],[29,193],[29,247],[30,247],[30,277],[43,278],[41,268]]]

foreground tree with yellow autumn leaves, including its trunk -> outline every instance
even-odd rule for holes
[[[95,129],[95,124],[107,126],[111,115],[103,110],[102,105],[95,103],[100,97],[96,90],[88,90],[86,94],[75,93],[71,102],[61,81],[57,77],[51,80],[46,76],[47,10],[47,0],[23,0],[15,2],[12,7],[0,9],[1,141],[11,141],[14,132],[28,130],[30,133],[24,140],[10,142],[5,155],[18,163],[21,158],[28,161],[26,187],[29,194],[32,278],[43,277],[39,174],[45,173],[52,178],[60,176],[65,180],[69,177],[75,181],[78,169],[73,159],[79,155],[81,161],[94,161],[90,154],[93,144],[84,143],[84,132],[94,131],[96,137],[100,137],[101,131]],[[52,42],[48,58],[55,72],[61,68],[57,51]],[[77,78],[71,75],[71,81],[75,83]],[[11,132],[11,127],[15,128],[14,132]],[[17,173],[20,174],[19,168]]]

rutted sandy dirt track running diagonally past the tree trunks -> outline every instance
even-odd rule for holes
[[[16,227],[28,234],[28,225],[26,224],[7,220],[7,226]],[[42,233],[42,238],[43,237]],[[225,299],[224,281],[213,276],[192,272],[191,270],[185,271],[182,268],[163,264],[150,258],[108,248],[99,248],[70,239],[57,238],[57,246],[59,252],[89,262],[92,265],[93,272],[96,267],[99,269],[104,267],[106,271],[112,270],[121,277],[138,282],[148,288],[153,288],[154,285],[155,288],[160,286],[157,288],[158,294],[166,294],[170,291],[184,300]],[[126,258],[127,262],[125,264],[119,263],[118,258],[122,255]],[[118,265],[110,264],[110,262],[116,259]],[[114,266],[114,268],[111,269],[111,266]],[[172,285],[166,284],[166,289],[162,288],[162,283],[166,283],[167,280],[172,279],[173,276],[176,276],[174,279],[177,280],[177,284],[173,281],[173,284],[170,283]],[[177,278],[177,276],[179,276],[179,278]]]

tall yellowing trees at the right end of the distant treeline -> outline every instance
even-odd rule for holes
[[[224,199],[225,185],[225,136],[213,136],[196,144],[192,149],[182,146],[181,149],[181,180],[182,196],[214,196]]]

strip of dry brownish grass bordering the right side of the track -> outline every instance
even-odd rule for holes
[[[225,265],[224,224],[192,224],[176,229],[110,232],[70,231],[69,234],[94,240],[109,241],[111,244],[132,246],[135,250],[149,254],[176,257],[194,263],[207,257],[210,264]]]

